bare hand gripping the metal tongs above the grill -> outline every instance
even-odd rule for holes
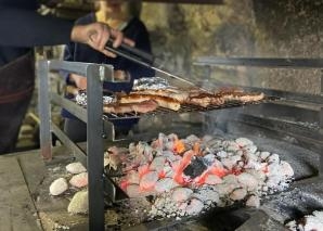
[[[134,42],[131,39],[125,38],[121,31],[112,29],[103,23],[76,25],[73,27],[70,34],[73,41],[87,43],[105,55],[115,57],[116,54],[104,49],[109,37],[114,39],[114,48],[119,47],[122,42],[131,47],[134,46]]]

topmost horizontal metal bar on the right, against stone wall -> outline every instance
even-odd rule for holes
[[[323,68],[323,59],[275,59],[275,57],[197,57],[194,65],[202,66],[258,66],[276,68]]]

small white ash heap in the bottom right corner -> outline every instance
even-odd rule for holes
[[[314,210],[299,220],[292,220],[285,224],[293,231],[323,231],[323,211]]]

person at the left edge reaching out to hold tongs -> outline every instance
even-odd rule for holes
[[[73,22],[37,13],[37,0],[0,0],[0,154],[14,151],[20,127],[35,86],[34,47],[81,42],[102,55],[112,36],[114,47],[133,46],[122,33],[103,23],[74,25]]]

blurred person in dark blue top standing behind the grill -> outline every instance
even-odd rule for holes
[[[131,2],[127,2],[124,0],[101,0],[95,1],[94,3],[98,10],[77,20],[76,25],[83,25],[94,22],[104,23],[108,25],[113,30],[120,30],[127,38],[132,39],[135,42],[137,49],[142,50],[148,54],[152,53],[147,29],[143,22],[141,22],[139,17],[137,17],[137,15],[131,13],[132,9],[130,9],[129,7]],[[103,88],[106,91],[111,92],[129,92],[132,88],[134,79],[138,79],[140,77],[152,77],[155,75],[154,70],[139,65],[125,57],[117,56],[116,59],[111,59],[78,42],[69,42],[66,46],[64,51],[64,60],[74,62],[111,64],[114,66],[115,75],[122,72],[129,73],[131,77],[129,84],[104,82]],[[76,74],[70,74],[65,77],[67,85],[74,86],[79,90],[83,90],[87,88],[86,78]],[[73,98],[74,95],[67,97]],[[74,117],[65,110],[63,110],[62,115],[63,117],[65,117],[64,131],[67,133],[67,136],[75,142],[86,141],[86,124]],[[127,134],[132,125],[134,125],[137,121],[138,119],[114,120],[116,133]]]

